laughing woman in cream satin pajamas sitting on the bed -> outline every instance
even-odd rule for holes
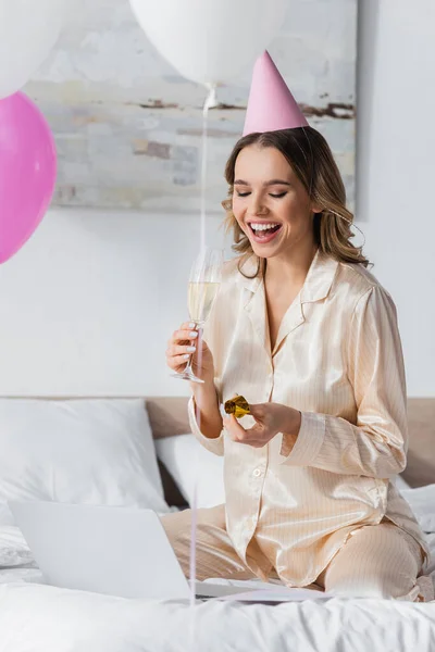
[[[204,383],[192,384],[190,424],[225,455],[226,504],[198,514],[197,575],[427,600],[427,549],[390,481],[407,450],[396,310],[350,242],[326,141],[293,118],[248,129],[229,156],[240,256],[225,265],[203,338],[184,324],[166,353],[181,371],[197,339]],[[237,393],[251,416],[223,418],[220,403]],[[163,523],[187,573],[190,512]]]

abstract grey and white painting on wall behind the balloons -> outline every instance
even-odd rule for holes
[[[197,211],[206,89],[153,48],[128,0],[80,2],[24,89],[54,133],[54,205]],[[291,0],[270,52],[355,198],[357,0]],[[241,135],[251,70],[210,112],[207,209],[221,211],[226,158]]]

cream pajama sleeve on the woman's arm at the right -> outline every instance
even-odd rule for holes
[[[406,466],[406,381],[396,309],[381,287],[370,288],[355,305],[347,358],[356,423],[302,412],[295,444],[283,436],[282,463],[390,478]]]

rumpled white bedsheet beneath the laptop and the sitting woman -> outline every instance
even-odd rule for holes
[[[428,527],[435,486],[413,491],[407,499],[418,499],[414,510]],[[435,532],[427,539],[435,556]],[[435,576],[435,564],[430,570]],[[38,578],[16,528],[0,529],[0,652],[435,650],[435,602],[210,601],[191,612],[182,601],[123,600],[44,586]]]

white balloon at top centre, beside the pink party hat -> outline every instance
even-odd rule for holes
[[[268,47],[289,0],[130,0],[144,32],[185,77],[219,84]]]

